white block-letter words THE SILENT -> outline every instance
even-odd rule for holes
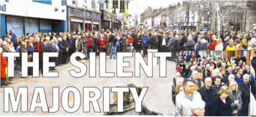
[[[43,77],[59,77],[59,72],[49,72],[50,67],[55,67],[55,62],[49,62],[49,57],[58,57],[57,52],[45,52],[42,55]],[[3,57],[8,57],[8,75],[14,76],[14,60],[15,57],[20,57],[19,52],[3,52]],[[33,53],[33,61],[28,62],[28,53],[24,52],[21,55],[21,76],[28,76],[28,68],[33,68],[33,76],[39,77],[39,53]],[[86,75],[87,66],[83,62],[76,60],[76,57],[85,58],[81,52],[75,52],[70,57],[70,62],[80,71],[75,69],[69,70],[69,74],[75,78],[80,78]],[[124,62],[124,57],[133,57],[132,52],[118,52],[116,57],[116,77],[132,77],[132,72],[124,72],[124,68],[129,67],[129,62]],[[139,52],[135,52],[135,77],[140,77],[140,67],[143,68],[147,77],[153,77],[153,57],[159,57],[159,76],[166,77],[166,58],[171,57],[170,52],[148,52],[147,62],[143,59]],[[115,73],[106,71],[106,55],[105,52],[99,53],[99,77],[115,77]],[[96,77],[96,54],[90,53],[89,59],[89,77]]]

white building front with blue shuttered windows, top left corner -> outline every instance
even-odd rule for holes
[[[20,37],[26,33],[66,31],[67,7],[62,1],[0,1],[1,37],[14,33]]]

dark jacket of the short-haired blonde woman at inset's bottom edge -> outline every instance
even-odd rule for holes
[[[226,98],[226,103],[222,102],[219,95],[214,100],[214,105],[211,110],[214,116],[232,116],[230,97]]]

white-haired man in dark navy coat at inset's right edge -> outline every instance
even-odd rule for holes
[[[242,108],[238,113],[238,116],[248,116],[248,108],[250,102],[250,84],[249,84],[249,75],[244,74],[244,81],[238,84],[238,89],[242,92]]]

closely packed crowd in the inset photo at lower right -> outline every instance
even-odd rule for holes
[[[255,57],[252,53],[252,62]],[[250,116],[251,90],[256,96],[255,77],[250,75],[244,57],[226,59],[181,52],[173,78],[176,116]]]

